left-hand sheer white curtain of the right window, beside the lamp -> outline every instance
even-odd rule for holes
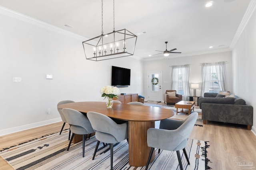
[[[212,66],[212,63],[202,63],[202,90],[201,90],[202,94],[201,96],[204,96],[205,92],[209,92],[211,66]]]

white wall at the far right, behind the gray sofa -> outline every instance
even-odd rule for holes
[[[256,109],[256,11],[232,50],[234,93]],[[253,115],[252,131],[256,134],[256,113]]]

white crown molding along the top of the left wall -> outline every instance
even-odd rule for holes
[[[18,20],[21,20],[21,21],[24,21],[24,22],[36,25],[38,27],[42,27],[42,28],[48,29],[50,31],[55,31],[57,33],[61,33],[63,35],[67,35],[69,37],[72,37],[72,38],[75,38],[75,39],[79,39],[79,40],[82,40],[82,41],[84,41],[85,39],[88,39],[88,38],[83,37],[81,35],[72,33],[70,31],[66,31],[65,29],[62,29],[60,27],[56,27],[54,25],[51,25],[49,23],[37,20],[37,19],[29,17],[29,16],[26,16],[24,14],[20,14],[20,13],[18,13],[16,11],[10,10],[10,9],[5,8],[3,6],[0,6],[0,14],[4,14],[6,16],[10,16],[12,18],[16,18]]]

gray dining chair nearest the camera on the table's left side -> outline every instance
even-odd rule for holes
[[[100,142],[109,143],[110,146],[110,168],[113,169],[113,144],[125,139],[128,141],[128,122],[117,124],[110,117],[101,113],[89,111],[87,117],[96,131],[95,137],[98,140],[92,160],[94,160]]]

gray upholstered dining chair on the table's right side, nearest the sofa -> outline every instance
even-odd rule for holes
[[[148,129],[147,143],[148,147],[151,147],[151,150],[145,170],[148,169],[155,148],[159,149],[158,153],[160,152],[160,149],[176,151],[181,170],[183,170],[183,167],[180,150],[183,150],[186,160],[188,164],[190,164],[185,147],[197,117],[198,113],[193,112],[184,120],[164,119],[160,122],[160,129]]]

